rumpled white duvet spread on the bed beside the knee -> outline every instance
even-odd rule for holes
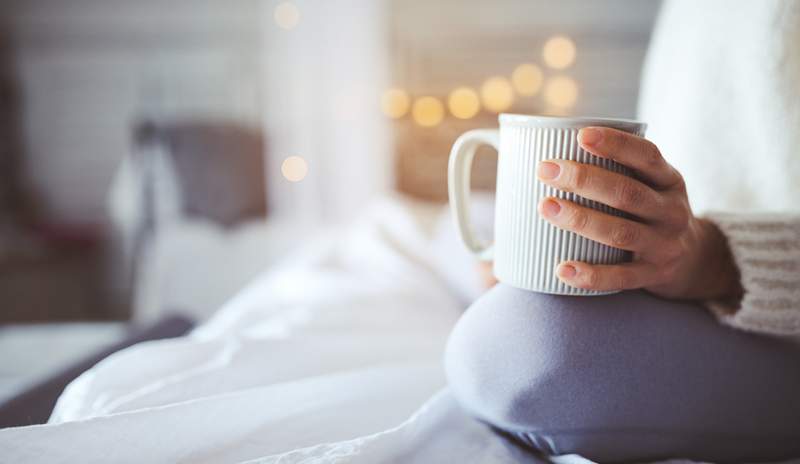
[[[441,212],[378,202],[190,336],[87,371],[49,424],[0,430],[0,462],[535,462],[445,388],[479,286]]]

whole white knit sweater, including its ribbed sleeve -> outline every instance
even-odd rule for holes
[[[709,307],[800,335],[800,1],[666,1],[639,110],[739,266],[743,299]]]

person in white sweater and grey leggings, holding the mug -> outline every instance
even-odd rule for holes
[[[545,454],[800,457],[798,44],[800,2],[663,5],[640,98],[650,140],[579,134],[637,179],[538,166],[543,182],[632,216],[545,199],[539,213],[554,225],[634,253],[621,265],[563,262],[559,278],[643,291],[586,298],[496,285],[448,343],[465,409]]]

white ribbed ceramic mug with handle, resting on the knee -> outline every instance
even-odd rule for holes
[[[555,196],[615,216],[625,215],[610,206],[556,190],[536,178],[537,165],[546,159],[573,160],[632,175],[625,166],[592,155],[579,146],[578,131],[589,126],[611,127],[639,136],[647,128],[644,123],[624,119],[501,114],[499,130],[472,130],[453,145],[448,182],[456,227],[470,251],[480,259],[494,261],[494,274],[500,282],[559,295],[614,293],[569,286],[558,279],[556,267],[566,260],[616,264],[629,261],[630,252],[560,229],[538,213],[539,202]],[[484,144],[498,152],[493,245],[477,239],[468,208],[472,159],[476,149]]]

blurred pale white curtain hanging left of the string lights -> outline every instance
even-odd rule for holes
[[[385,0],[298,0],[290,29],[265,3],[264,124],[271,214],[309,225],[354,217],[393,185],[380,95],[388,71]],[[281,175],[287,156],[308,175]]]

